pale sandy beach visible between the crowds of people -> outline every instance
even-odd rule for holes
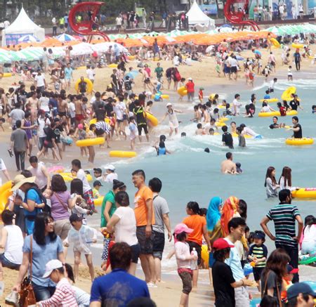
[[[316,46],[311,46],[313,53],[316,53]],[[280,77],[282,79],[287,78],[287,66],[282,66],[280,63],[281,60],[281,49],[272,49],[273,53],[275,53],[275,56],[277,58],[277,72],[275,74],[272,74],[269,78],[272,79],[273,77]],[[293,48],[291,48],[291,51],[293,51]],[[269,52],[268,50],[261,50],[263,53],[263,64],[267,62]],[[244,58],[247,57],[253,57],[253,53],[251,51],[242,51],[240,53]],[[307,76],[308,72],[311,72],[312,70],[315,70],[315,66],[311,64],[310,59],[304,59],[302,58],[303,62],[301,63],[301,72],[303,76]],[[149,62],[150,68],[153,72],[154,67],[156,67],[157,62]],[[164,71],[168,67],[172,67],[171,61],[162,61],[161,62],[162,67],[164,68]],[[126,65],[126,67],[133,67],[133,69],[137,69],[136,62],[131,62]],[[208,97],[211,93],[236,93],[238,89],[246,89],[246,83],[244,79],[244,72],[243,69],[241,72],[239,72],[239,79],[238,81],[232,81],[225,79],[223,77],[223,74],[221,74],[221,77],[217,77],[216,71],[215,71],[215,60],[214,58],[203,58],[202,62],[193,62],[192,66],[186,66],[181,65],[178,67],[178,70],[182,77],[192,77],[192,79],[195,81],[195,91],[197,96],[197,91],[199,89],[199,86],[203,86],[204,89],[204,97]],[[294,67],[293,67],[294,70]],[[96,69],[96,81],[94,83],[94,90],[103,92],[105,90],[105,87],[107,84],[110,84],[110,74],[112,73],[112,68],[106,67],[103,69]],[[85,70],[75,70],[74,71],[74,81],[79,79],[81,75],[86,76]],[[47,78],[48,76],[46,76]],[[19,77],[13,76],[8,78],[3,78],[0,81],[0,86],[4,89],[8,89],[12,84],[18,83]],[[264,77],[262,76],[256,76],[254,87],[263,84]],[[135,93],[140,93],[140,91],[143,91],[143,82],[141,81],[141,76],[138,74],[138,77],[136,77],[135,80],[135,87],[133,91]],[[74,82],[72,83],[73,86]],[[29,82],[27,82],[27,88],[31,85]],[[166,88],[167,84],[166,81],[164,82],[164,87]],[[171,84],[171,87],[173,84]],[[251,90],[251,87],[248,86],[249,91]],[[158,119],[160,119],[166,110],[166,103],[176,103],[178,100],[178,94],[175,91],[168,91],[167,89],[162,90],[163,93],[169,94],[171,96],[170,100],[164,100],[162,103],[157,102],[154,103],[154,107],[152,108],[154,115],[157,116]],[[70,91],[70,93],[74,93],[74,89]],[[205,100],[205,99],[204,99]],[[205,100],[206,101],[206,100]],[[186,98],[183,99],[183,103],[180,104],[180,110],[183,112],[189,112],[188,107],[192,105],[191,103],[186,102]],[[178,108],[178,105],[177,105]],[[190,111],[192,113],[192,111]],[[11,129],[9,127],[9,124],[4,124],[5,132],[0,131],[0,143],[2,146],[0,147],[0,157],[4,159],[6,162],[6,166],[8,167],[8,171],[11,174],[11,178],[13,178],[17,172],[15,171],[15,161],[14,158],[8,157],[8,145],[9,145],[9,139],[11,135]],[[159,133],[161,131],[159,130]],[[168,130],[164,131],[165,133],[168,133]],[[138,143],[136,142],[136,152],[140,152],[144,148],[147,148],[152,144],[153,141],[157,140],[158,133],[153,130],[153,134],[151,136],[150,143]],[[120,141],[115,140],[110,143],[111,148],[103,148],[102,150],[96,148],[96,162],[94,164],[89,164],[87,162],[87,158],[84,157],[81,159],[83,162],[83,166],[85,169],[91,169],[93,166],[99,166],[99,163],[101,164],[107,164],[110,162],[115,162],[115,158],[110,158],[108,156],[108,152],[110,150],[130,150],[130,144],[129,139],[128,141]],[[37,153],[37,147],[34,148],[33,154]],[[72,145],[67,146],[66,152],[64,154],[64,157],[62,159],[62,162],[54,162],[54,160],[51,158],[51,154],[49,154],[49,159],[42,159],[47,166],[51,166],[54,164],[57,165],[63,165],[65,166],[65,169],[70,169],[70,162],[74,158],[80,159],[80,150],[77,148],[77,146]],[[26,162],[26,165],[28,166],[29,163]],[[96,255],[96,257],[98,257]],[[69,260],[69,259],[68,259]],[[85,263],[85,262],[84,262]],[[306,275],[310,275],[311,270],[314,270],[314,275],[316,275],[316,268],[312,268],[309,266],[300,266],[300,275],[302,280],[306,280]],[[5,282],[5,290],[4,295],[0,297],[0,305],[4,305],[4,297],[8,294],[8,292],[11,291],[11,288],[13,287],[13,284],[15,283],[16,276],[18,272],[13,270],[4,269],[4,282]],[[100,268],[96,268],[96,275],[102,274],[102,271]],[[77,286],[84,289],[86,292],[90,292],[91,287],[91,281],[90,276],[88,274],[88,268],[86,266],[81,266],[79,271],[79,281],[77,282]],[[142,273],[140,273],[140,270],[138,270],[138,276],[141,277]],[[180,282],[180,278],[176,274],[176,271],[173,271],[173,274],[164,274],[163,275],[164,282],[160,283],[157,288],[150,288],[150,294],[152,296],[152,299],[157,303],[158,307],[164,307],[164,306],[178,306],[179,299],[180,299],[180,292],[182,289],[182,283]],[[200,276],[201,283],[199,285],[199,289],[197,292],[192,292],[190,294],[190,306],[212,306],[211,302],[213,301],[213,288],[209,285],[209,277],[208,272],[206,270],[202,270],[201,276]],[[256,290],[251,291],[254,293],[254,296],[258,296],[258,292]],[[166,303],[168,302],[168,303]]]

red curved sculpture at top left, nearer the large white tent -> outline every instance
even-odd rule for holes
[[[98,31],[96,15],[103,2],[81,2],[76,4],[69,12],[68,22],[72,30],[78,34],[88,35],[91,41],[93,35],[100,35],[105,41],[110,41],[103,32]]]

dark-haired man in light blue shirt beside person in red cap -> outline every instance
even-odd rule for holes
[[[244,235],[244,228],[246,228],[246,222],[244,218],[232,218],[228,222],[229,235],[224,240],[230,245],[235,245],[235,242],[242,240]],[[235,280],[244,279],[244,270],[240,261],[240,255],[236,247],[230,249],[230,258],[225,260],[225,263],[230,266],[232,275]],[[249,307],[251,295],[247,292],[246,283],[242,287],[235,288],[235,306],[236,307]]]

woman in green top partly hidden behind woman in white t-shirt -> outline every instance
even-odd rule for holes
[[[116,179],[113,180],[113,189],[107,192],[105,195],[103,202],[102,202],[102,209],[101,209],[101,227],[106,227],[107,222],[110,221],[111,216],[114,214],[114,211],[117,209],[115,206],[115,194],[119,191],[125,191],[126,185],[118,181]],[[103,260],[103,263],[101,264],[101,267],[103,270],[106,270],[107,265],[107,256],[109,254],[109,244],[110,244],[110,237],[105,237],[103,241],[103,252],[101,259]]]

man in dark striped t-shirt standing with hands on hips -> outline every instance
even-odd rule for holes
[[[279,204],[270,209],[263,218],[260,225],[268,237],[275,241],[275,247],[284,249],[291,261],[289,264],[293,268],[298,268],[298,242],[301,239],[303,230],[303,220],[296,206],[291,204],[291,191],[279,191]],[[270,233],[267,224],[275,223],[275,236]],[[298,222],[298,235],[295,233],[295,222]],[[293,282],[298,282],[298,273],[294,274]]]

